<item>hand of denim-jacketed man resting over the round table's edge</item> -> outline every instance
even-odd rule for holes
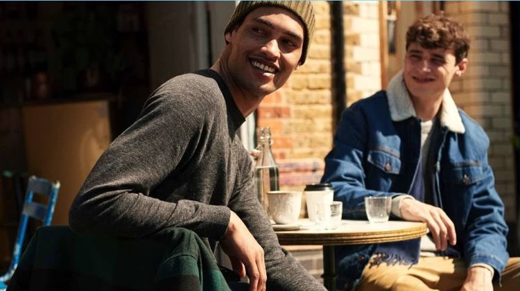
[[[455,226],[448,215],[439,207],[431,206],[414,199],[401,201],[401,218],[409,221],[426,222],[433,236],[435,248],[444,251],[449,242],[457,243]]]

